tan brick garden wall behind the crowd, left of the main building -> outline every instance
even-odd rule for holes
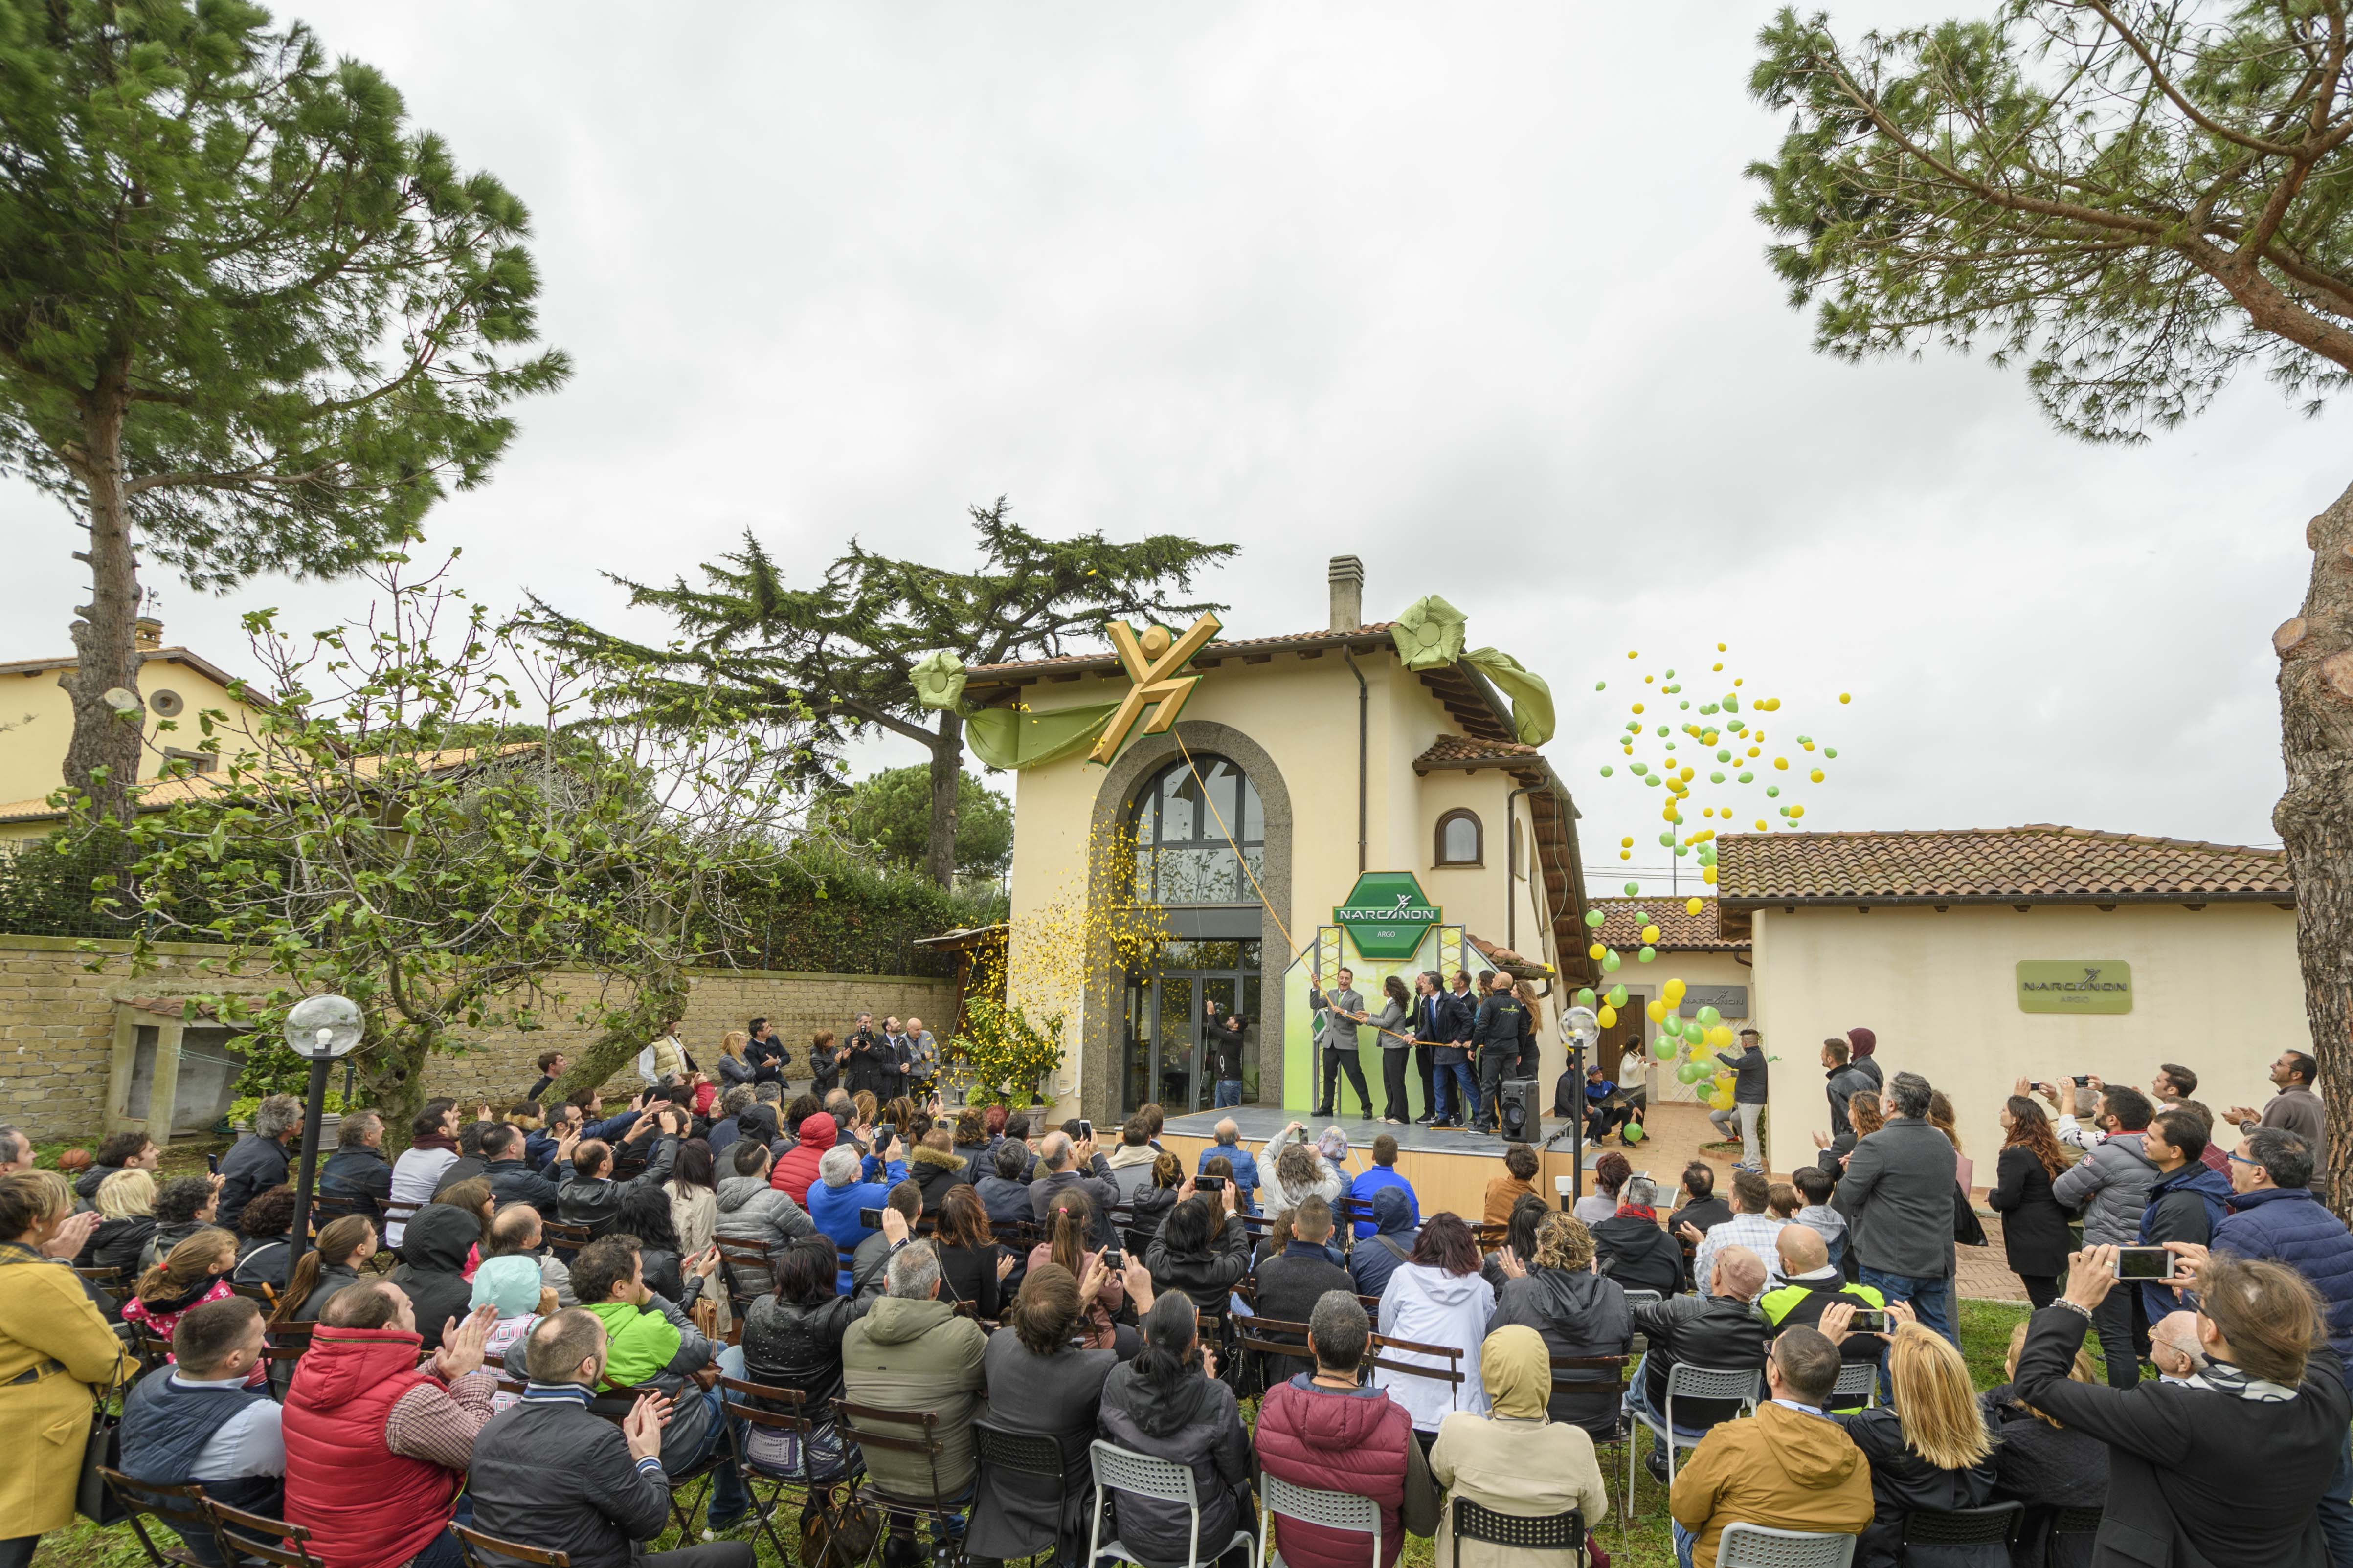
[[[87,969],[75,938],[0,936],[0,1124],[35,1140],[96,1140],[106,1131],[108,1079],[115,1056],[118,1001],[176,1001],[198,990],[261,990],[256,976],[228,978],[202,969],[224,950],[188,943],[158,947],[158,966],[129,976],[125,943],[99,943],[108,959]],[[591,999],[595,976],[579,976],[572,1001]],[[955,980],[915,976],[812,976],[781,971],[696,971],[680,1037],[696,1060],[718,1056],[720,1037],[765,1016],[793,1048],[793,1077],[807,1077],[807,1041],[816,1030],[847,1034],[861,1011],[882,1018],[915,1013],[946,1034]],[[153,1023],[153,1016],[146,1016]],[[485,1030],[454,1056],[438,1056],[426,1088],[456,1098],[513,1100],[539,1077],[541,1051],[579,1051],[591,1030],[555,1023],[546,1030]],[[631,1084],[624,1077],[616,1084]]]

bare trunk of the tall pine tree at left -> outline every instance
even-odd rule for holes
[[[146,710],[118,715],[106,693],[139,691],[139,559],[132,552],[129,494],[122,475],[122,414],[127,397],[115,376],[85,404],[82,482],[89,491],[89,604],[75,609],[75,665],[56,677],[73,701],[73,741],[66,783],[85,790],[101,816],[129,820],[129,788],[139,780]]]

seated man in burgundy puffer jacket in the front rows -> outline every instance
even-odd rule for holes
[[[1405,1535],[1438,1528],[1438,1486],[1414,1441],[1414,1418],[1358,1375],[1372,1349],[1372,1324],[1346,1288],[1327,1291],[1304,1319],[1306,1368],[1275,1382],[1259,1401],[1259,1467],[1278,1481],[1367,1497],[1381,1512],[1381,1556],[1393,1568]],[[1593,1455],[1586,1453],[1586,1465]],[[1275,1516],[1268,1554],[1292,1568],[1358,1568],[1358,1530]]]

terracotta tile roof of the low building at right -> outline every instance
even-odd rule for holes
[[[2294,898],[2287,853],[2028,823],[1922,832],[1739,832],[1727,907],[1769,903],[2174,903]]]

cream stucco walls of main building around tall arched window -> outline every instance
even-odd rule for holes
[[[1386,651],[1358,654],[1367,684],[1367,773],[1365,837],[1367,870],[1412,870],[1424,891],[1442,905],[1445,919],[1464,922],[1475,936],[1504,940],[1506,931],[1506,846],[1504,818],[1513,780],[1501,769],[1480,773],[1414,773],[1419,757],[1440,733],[1457,733],[1447,710],[1428,686]],[[1038,682],[1021,689],[1021,701],[1038,712],[1111,703],[1125,691],[1125,679],[1085,677],[1075,682]],[[1318,658],[1275,654],[1268,663],[1224,661],[1202,670],[1200,686],[1186,701],[1184,719],[1217,722],[1240,729],[1273,757],[1292,799],[1292,900],[1278,910],[1292,933],[1294,950],[1313,938],[1318,924],[1332,919],[1332,905],[1355,884],[1358,875],[1358,684],[1348,663],[1327,651]],[[1080,1093],[1078,1041],[1082,1039],[1085,976],[1068,959],[1068,910],[1085,905],[1087,832],[1094,818],[1104,769],[1082,755],[1021,769],[1014,780],[1014,865],[1012,931],[1007,943],[1009,999],[1031,1018],[1064,1011],[1064,1072],[1056,1081],[1064,1100]],[[1452,806],[1471,806],[1487,832],[1482,870],[1435,870],[1438,816]],[[1522,842],[1532,844],[1532,820],[1525,797],[1515,816]],[[1520,952],[1541,952],[1548,961],[1548,922],[1541,917],[1541,882],[1518,884]],[[1268,980],[1287,954],[1266,954]]]

